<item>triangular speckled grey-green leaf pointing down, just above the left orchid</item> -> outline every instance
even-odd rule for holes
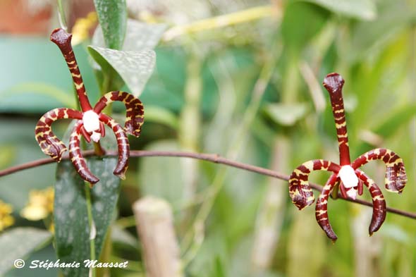
[[[88,50],[103,70],[114,68],[135,97],[142,93],[154,69],[156,54],[153,50],[118,51],[95,46],[88,47]]]

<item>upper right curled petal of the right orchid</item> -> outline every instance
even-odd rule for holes
[[[386,190],[390,192],[402,192],[408,182],[403,159],[389,149],[377,148],[359,156],[353,161],[351,166],[357,169],[372,160],[381,160],[386,164]]]

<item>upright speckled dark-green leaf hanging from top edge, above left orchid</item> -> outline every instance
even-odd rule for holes
[[[106,47],[121,49],[127,25],[126,0],[94,0]]]

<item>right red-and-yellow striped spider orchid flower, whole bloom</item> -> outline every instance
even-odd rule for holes
[[[372,197],[373,214],[369,225],[369,235],[379,230],[386,219],[386,202],[379,186],[359,168],[372,160],[381,160],[386,164],[385,185],[389,192],[401,193],[407,182],[403,160],[389,149],[372,149],[350,162],[350,149],[348,147],[347,123],[343,104],[342,88],[344,80],[341,75],[331,73],[326,76],[323,83],[329,92],[332,112],[334,114],[336,135],[338,137],[340,164],[322,159],[307,161],[296,168],[290,175],[289,194],[293,204],[303,209],[314,202],[314,195],[308,183],[312,171],[331,171],[332,175],[326,181],[319,195],[315,208],[315,216],[319,226],[325,231],[333,242],[337,236],[329,223],[327,204],[331,191],[339,184],[341,195],[344,198],[355,199],[362,195],[365,185]]]

